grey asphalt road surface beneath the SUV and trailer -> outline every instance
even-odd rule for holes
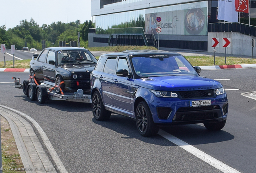
[[[207,131],[202,124],[163,130],[239,172],[256,172],[256,100],[241,95],[256,91],[255,74],[256,68],[202,70],[202,76],[221,81],[227,90],[229,114],[223,130]],[[1,83],[13,82],[12,76],[23,81],[29,73],[0,72],[0,104],[37,121],[69,173],[221,172],[160,135],[140,136],[127,117],[112,115],[101,122],[93,119],[91,104],[30,101],[14,84]]]

